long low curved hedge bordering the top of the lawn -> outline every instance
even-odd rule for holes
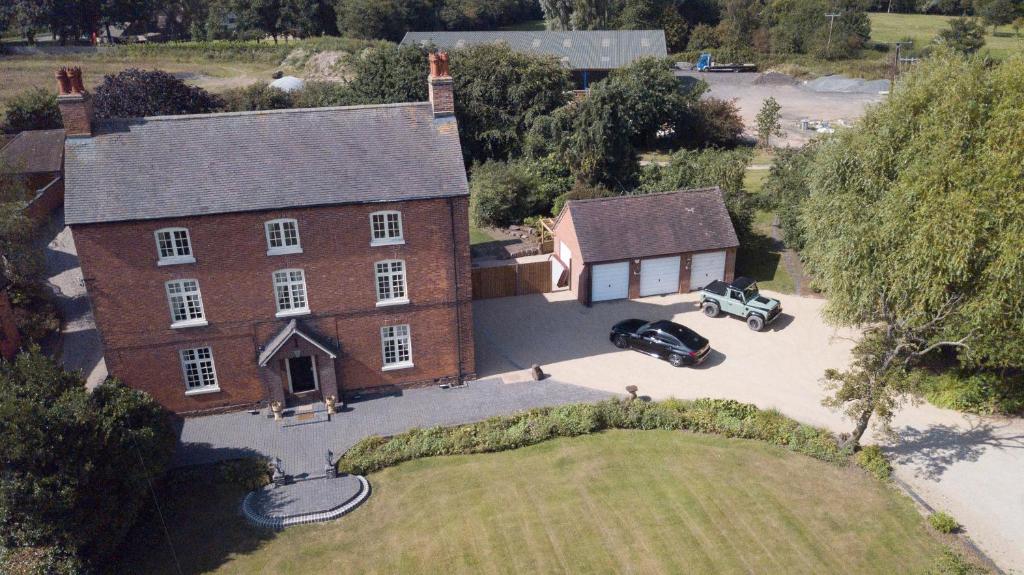
[[[844,463],[850,457],[831,433],[774,409],[726,399],[609,399],[530,409],[465,426],[415,429],[388,438],[369,437],[339,459],[338,471],[366,475],[420,457],[505,451],[612,429],[685,430],[757,439],[830,463]]]

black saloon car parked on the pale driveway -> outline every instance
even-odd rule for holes
[[[676,367],[697,365],[711,353],[707,339],[685,325],[666,319],[620,321],[611,327],[611,343],[617,348],[653,355]]]

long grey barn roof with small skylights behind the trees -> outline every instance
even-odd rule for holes
[[[517,52],[555,56],[571,70],[613,70],[644,56],[668,55],[660,30],[407,32],[401,39],[404,45],[446,50],[499,42]]]

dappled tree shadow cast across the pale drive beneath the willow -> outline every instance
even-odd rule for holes
[[[897,430],[899,442],[886,450],[893,461],[913,468],[915,477],[938,480],[954,463],[977,461],[990,447],[1024,449],[1024,434],[1000,435],[1002,426],[976,419],[968,429],[938,425]]]

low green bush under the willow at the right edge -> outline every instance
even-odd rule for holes
[[[915,373],[925,399],[937,407],[980,414],[1024,413],[1024,377],[992,371]]]

